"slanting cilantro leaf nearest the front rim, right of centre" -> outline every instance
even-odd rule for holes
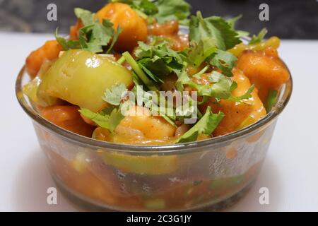
[[[213,114],[211,107],[208,106],[206,113],[201,119],[196,122],[196,124],[184,133],[181,137],[175,141],[175,143],[186,143],[191,141],[196,141],[196,138],[201,134],[211,135],[216,129],[216,126],[223,119],[223,112],[218,112],[218,114]]]

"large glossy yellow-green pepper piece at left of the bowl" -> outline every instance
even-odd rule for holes
[[[112,85],[131,85],[128,69],[107,57],[72,49],[54,62],[45,73],[37,97],[58,97],[73,105],[98,112],[107,104],[102,96]]]

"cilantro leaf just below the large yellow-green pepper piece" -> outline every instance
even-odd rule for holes
[[[110,115],[105,114],[104,112],[91,112],[86,108],[81,108],[78,112],[83,114],[84,117],[94,121],[98,126],[110,130],[112,133],[114,133],[114,129],[116,129],[116,126],[124,118],[119,109],[113,109]]]

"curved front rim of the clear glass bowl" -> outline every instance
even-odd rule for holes
[[[286,66],[288,69],[288,67]],[[289,69],[288,69],[289,71]],[[289,71],[290,73],[290,71]],[[73,133],[66,129],[61,128],[52,122],[47,121],[47,119],[43,118],[33,107],[30,105],[30,100],[26,97],[22,92],[22,81],[23,76],[27,75],[25,72],[25,66],[20,69],[18,73],[18,77],[16,78],[16,97],[20,106],[23,110],[28,114],[33,121],[41,126],[44,126],[45,129],[56,133],[58,136],[62,136],[63,138],[68,139],[73,143],[81,143],[83,146],[90,146],[96,149],[102,150],[115,150],[123,153],[131,153],[136,155],[144,155],[145,153],[157,154],[157,155],[165,155],[165,154],[177,154],[177,153],[189,153],[201,150],[204,147],[218,147],[225,145],[226,143],[232,143],[233,141],[244,138],[246,136],[250,136],[254,133],[257,133],[259,129],[269,125],[276,117],[278,117],[283,109],[285,109],[286,105],[290,100],[290,96],[293,91],[293,78],[290,73],[290,79],[283,84],[278,97],[278,101],[276,105],[273,106],[271,112],[266,114],[265,117],[259,119],[254,124],[250,124],[249,126],[240,129],[238,131],[234,131],[232,133],[225,134],[223,136],[216,136],[213,138],[208,138],[203,141],[193,141],[189,143],[179,143],[179,144],[167,144],[167,145],[131,145],[131,144],[122,144],[122,143],[111,143],[107,141],[98,141],[93,138],[88,138],[86,136],[81,136],[77,133]]]

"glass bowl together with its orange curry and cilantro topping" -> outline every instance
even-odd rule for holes
[[[114,210],[202,208],[247,189],[291,92],[278,37],[247,38],[239,17],[188,19],[183,0],[74,11],[69,37],[26,59],[30,106],[18,95],[42,117],[58,184]]]

